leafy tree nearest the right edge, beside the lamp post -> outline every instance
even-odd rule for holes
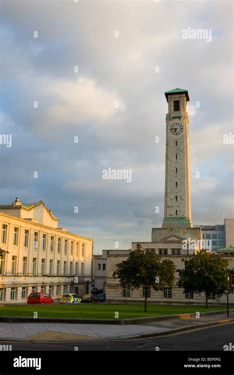
[[[205,293],[205,307],[208,307],[210,293],[222,296],[227,290],[227,276],[232,280],[232,270],[228,269],[229,260],[221,255],[201,250],[190,259],[182,259],[184,269],[177,269],[179,281],[177,285],[184,288],[184,292]],[[234,288],[230,285],[229,291]]]

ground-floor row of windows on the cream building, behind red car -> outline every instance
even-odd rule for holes
[[[70,291],[70,287],[68,285],[63,286],[63,293]],[[38,291],[36,286],[32,287],[32,293],[43,293],[45,294],[45,286],[41,285]],[[56,296],[60,296],[61,294],[61,285],[56,286]],[[0,288],[0,301],[4,301],[6,296],[6,288]],[[52,285],[49,286],[49,296],[54,296],[54,287]],[[18,300],[18,288],[10,288],[10,300]],[[45,297],[45,296],[44,296]],[[28,298],[28,287],[22,287],[21,290],[21,300],[26,300]]]

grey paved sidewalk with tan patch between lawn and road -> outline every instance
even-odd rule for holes
[[[164,336],[202,327],[234,322],[234,313],[202,316],[198,319],[173,319],[134,325],[0,323],[0,340],[77,341]]]

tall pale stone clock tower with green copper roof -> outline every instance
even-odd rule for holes
[[[166,169],[163,228],[192,228],[189,176],[189,94],[176,88],[165,92]]]

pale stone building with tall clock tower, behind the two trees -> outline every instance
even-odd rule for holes
[[[189,93],[187,90],[176,88],[165,92],[168,103],[166,114],[166,159],[165,159],[165,195],[164,195],[164,220],[161,228],[152,228],[151,241],[132,242],[135,250],[138,243],[146,252],[156,252],[164,259],[170,259],[176,268],[184,267],[182,259],[190,258],[196,251],[200,250],[202,240],[212,239],[211,248],[230,260],[229,267],[234,268],[234,219],[226,219],[225,225],[220,227],[197,225],[193,226],[191,219],[191,197],[190,197],[190,171],[189,171],[189,116],[187,113],[187,102]],[[225,226],[227,235],[225,237]],[[195,241],[195,245],[184,246],[189,239]],[[229,248],[222,252],[220,249],[225,245]],[[213,250],[212,250],[213,246]],[[203,246],[202,246],[203,247]],[[201,247],[201,248],[202,248]],[[204,248],[204,247],[203,247]],[[105,252],[106,281],[104,287],[106,300],[121,302],[144,301],[145,291],[142,288],[128,290],[122,289],[118,280],[112,277],[116,270],[116,264],[126,260],[131,250],[108,250]],[[99,261],[100,262],[100,261]],[[178,273],[172,289],[165,287],[163,292],[148,291],[148,301],[160,304],[195,304],[204,305],[205,295],[197,295],[193,292],[183,293],[183,289],[176,285]],[[234,294],[229,296],[230,303],[234,304]],[[210,295],[210,304],[222,304],[226,302],[226,296]]]

